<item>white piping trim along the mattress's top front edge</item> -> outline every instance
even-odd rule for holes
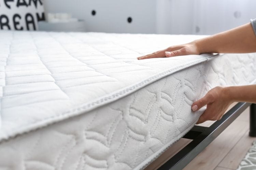
[[[15,137],[16,135],[23,134],[23,133],[26,133],[26,132],[30,132],[32,130],[36,130],[36,129],[39,129],[39,128],[43,128],[43,127],[45,127],[49,124],[53,124],[55,122],[65,120],[65,119],[70,118],[70,117],[74,117],[74,116],[84,114],[86,112],[89,112],[89,111],[97,108],[97,107],[100,107],[102,105],[105,105],[105,104],[111,103],[113,101],[116,101],[120,98],[123,98],[123,97],[125,97],[125,96],[127,96],[127,95],[145,87],[146,85],[149,85],[149,84],[151,84],[151,83],[153,83],[153,82],[155,82],[155,81],[157,81],[161,78],[164,78],[168,75],[171,75],[171,74],[173,74],[177,71],[183,70],[183,69],[188,68],[190,66],[194,66],[194,65],[197,65],[197,64],[209,61],[209,60],[213,60],[214,58],[216,58],[218,56],[219,56],[219,54],[215,54],[215,55],[206,56],[206,57],[204,57],[202,59],[199,59],[199,60],[186,62],[184,64],[178,65],[176,67],[173,67],[173,68],[170,68],[170,69],[165,70],[163,72],[160,72],[158,74],[155,74],[155,75],[153,75],[153,76],[151,76],[147,79],[144,79],[140,82],[137,82],[137,83],[131,84],[129,86],[126,86],[122,89],[116,90],[116,91],[114,91],[114,92],[112,92],[108,95],[104,95],[100,98],[97,98],[97,99],[93,100],[92,102],[87,102],[85,104],[78,105],[75,108],[70,109],[67,112],[61,113],[59,115],[54,115],[54,116],[51,116],[51,117],[47,117],[47,118],[42,119],[40,121],[35,121],[33,123],[30,123],[27,126],[12,129],[11,132],[14,132],[14,133],[8,133],[8,134],[7,133],[6,134],[2,133],[2,134],[0,134],[0,142],[3,141],[3,140],[8,140],[11,137]]]

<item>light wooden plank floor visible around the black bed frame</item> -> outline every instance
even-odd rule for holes
[[[210,126],[207,121],[201,126]],[[252,146],[255,137],[249,137],[249,107],[232,122],[210,145],[193,159],[184,170],[232,170],[236,169]],[[191,140],[181,139],[163,153],[146,170],[157,169]]]

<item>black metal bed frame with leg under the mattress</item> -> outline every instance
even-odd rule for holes
[[[219,134],[221,134],[248,106],[250,106],[250,136],[256,137],[256,104],[237,103],[221,120],[210,127],[195,125],[183,138],[193,139],[182,150],[171,157],[159,170],[182,170],[204,148],[206,148]]]

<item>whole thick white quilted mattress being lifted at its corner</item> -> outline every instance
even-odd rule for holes
[[[203,36],[0,32],[0,169],[143,169],[215,86],[253,84],[256,54],[137,60]]]

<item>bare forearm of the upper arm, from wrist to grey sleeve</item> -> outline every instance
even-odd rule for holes
[[[251,23],[198,39],[194,43],[200,54],[256,52],[256,36]]]

